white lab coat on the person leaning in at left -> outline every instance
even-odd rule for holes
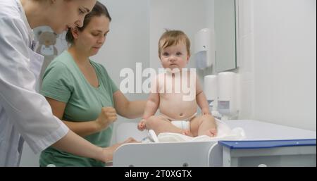
[[[35,91],[43,56],[20,0],[0,0],[0,166],[18,166],[23,139],[35,153],[68,132]]]

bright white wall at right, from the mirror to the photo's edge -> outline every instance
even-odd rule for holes
[[[316,1],[239,5],[240,118],[316,130]]]

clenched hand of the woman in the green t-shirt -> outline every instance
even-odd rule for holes
[[[104,130],[108,125],[117,120],[116,109],[113,107],[101,108],[101,113],[95,123],[97,125],[97,130]]]

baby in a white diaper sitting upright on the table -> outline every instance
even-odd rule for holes
[[[151,82],[143,119],[137,126],[139,130],[154,130],[156,135],[161,132],[191,137],[217,135],[215,119],[211,116],[196,73],[185,70],[189,57],[190,42],[184,32],[167,30],[163,33],[159,40],[159,58],[166,73],[159,74]],[[194,92],[192,99],[185,92],[185,85],[189,85],[190,93]],[[197,116],[197,104],[201,108],[201,116]],[[154,116],[158,108],[161,114]]]

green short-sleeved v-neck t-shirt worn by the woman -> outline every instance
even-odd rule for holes
[[[64,51],[46,68],[40,91],[46,97],[66,103],[63,120],[84,122],[96,120],[102,107],[113,105],[113,93],[118,90],[104,66],[90,61],[99,80],[99,87],[93,87],[86,80],[73,57]],[[106,147],[111,142],[113,124],[106,130],[85,137],[97,146]],[[104,166],[101,161],[68,154],[49,147],[42,151],[40,166]]]

